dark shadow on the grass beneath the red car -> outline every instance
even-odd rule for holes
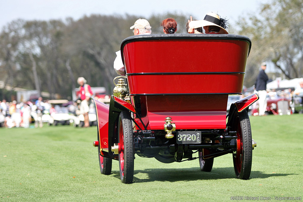
[[[112,171],[113,176],[120,179],[119,171]],[[136,174],[138,174],[136,176]],[[142,179],[138,178],[140,174]],[[266,174],[262,171],[251,171],[250,179],[256,178],[268,178],[268,177],[281,177],[295,175],[291,173],[272,173]],[[162,182],[177,182],[177,181],[195,181],[195,180],[217,180],[217,179],[235,179],[235,171],[233,167],[224,167],[224,168],[213,168],[211,172],[200,171],[199,168],[178,168],[178,169],[145,169],[145,170],[135,170],[134,171],[134,183],[139,182],[153,182],[153,181],[162,181]]]

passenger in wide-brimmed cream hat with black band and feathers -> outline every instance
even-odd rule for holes
[[[203,20],[188,20],[188,33],[190,34],[228,34],[228,20],[221,18],[218,14],[209,12]],[[197,28],[203,28],[205,32],[198,32]]]

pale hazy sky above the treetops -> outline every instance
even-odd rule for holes
[[[267,0],[269,1],[269,0]],[[0,28],[18,18],[50,20],[84,15],[139,15],[148,20],[152,14],[176,12],[203,19],[208,12],[217,12],[235,24],[239,16],[258,13],[260,0],[0,0]]]

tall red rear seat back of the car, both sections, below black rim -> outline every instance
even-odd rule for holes
[[[165,47],[165,48],[164,48]],[[127,73],[245,72],[249,45],[231,39],[132,41],[123,48]],[[130,94],[241,93],[243,74],[128,75]]]

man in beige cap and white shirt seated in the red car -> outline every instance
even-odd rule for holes
[[[130,29],[134,29],[134,35],[144,35],[144,34],[151,34],[151,26],[149,22],[145,19],[138,19]],[[114,61],[114,69],[118,75],[125,75],[125,67],[123,65],[121,51],[116,52],[116,59]]]

